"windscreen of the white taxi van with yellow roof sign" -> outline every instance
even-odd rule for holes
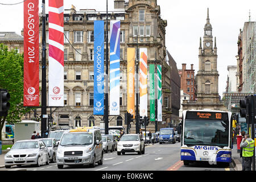
[[[93,143],[92,133],[68,133],[64,134],[60,141],[61,146],[89,145]]]

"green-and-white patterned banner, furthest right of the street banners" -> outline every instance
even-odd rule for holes
[[[162,105],[163,105],[163,96],[162,96],[162,65],[157,66],[158,69],[158,121],[162,122]]]

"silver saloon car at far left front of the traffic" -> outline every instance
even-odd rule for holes
[[[21,166],[24,164],[49,164],[49,155],[46,144],[42,140],[20,140],[15,142],[5,155],[5,167]]]

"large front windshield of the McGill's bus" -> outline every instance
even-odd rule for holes
[[[186,119],[184,144],[225,147],[229,145],[229,121]]]

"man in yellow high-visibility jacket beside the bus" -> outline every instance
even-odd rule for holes
[[[253,152],[254,152],[254,140],[250,138],[249,134],[245,135],[240,143],[242,147],[242,158],[243,158],[243,171],[251,171],[251,163],[253,162]]]

